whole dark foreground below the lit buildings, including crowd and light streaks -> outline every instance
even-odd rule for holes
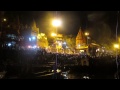
[[[1,79],[116,79],[116,60],[109,55],[93,58],[57,54],[58,70],[54,73],[56,54],[32,50],[4,50],[0,54],[0,72],[4,71]],[[88,65],[82,64],[84,59]]]

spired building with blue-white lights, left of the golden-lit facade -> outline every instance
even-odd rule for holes
[[[23,40],[20,42],[21,47],[37,46],[37,36],[39,34],[39,28],[36,26],[36,22],[33,19],[31,25],[21,25],[20,36]]]

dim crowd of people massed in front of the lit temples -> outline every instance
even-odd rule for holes
[[[81,60],[89,60],[89,68],[97,67],[111,68],[111,71],[116,70],[116,57],[111,55],[104,55],[101,57],[79,55],[79,54],[59,54],[47,52],[45,49],[29,49],[29,50],[0,50],[0,71],[7,71],[17,76],[27,75],[26,73],[33,72],[32,66],[49,65],[48,62],[55,62],[57,57],[57,66],[63,68],[64,66],[81,66]],[[120,63],[120,56],[117,58]],[[109,69],[110,70],[110,69]],[[94,71],[94,70],[92,70]],[[100,72],[100,70],[98,71]]]

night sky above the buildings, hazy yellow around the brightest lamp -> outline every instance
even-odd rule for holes
[[[55,29],[51,21],[56,16],[56,11],[7,11],[5,14],[9,17],[19,15],[20,21],[28,25],[34,18],[40,32],[46,34]],[[59,33],[76,35],[80,27],[89,31],[89,28],[97,30],[96,28],[102,26],[103,30],[109,28],[115,34],[117,11],[57,11],[57,17],[62,20],[62,26],[58,28]]]

